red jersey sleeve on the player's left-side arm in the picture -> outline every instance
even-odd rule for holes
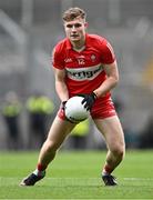
[[[64,58],[63,53],[60,51],[60,47],[54,47],[52,51],[52,66],[58,69],[64,69]]]

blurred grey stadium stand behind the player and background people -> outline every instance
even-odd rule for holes
[[[23,104],[30,93],[39,91],[50,97],[58,109],[50,56],[57,41],[64,37],[61,16],[69,7],[83,8],[89,32],[104,36],[114,47],[120,83],[113,99],[119,106],[128,147],[139,148],[140,136],[153,114],[152,0],[0,0],[1,104],[10,90],[17,92]],[[21,128],[26,149],[26,111],[21,116]],[[1,150],[7,149],[6,132],[0,116]],[[91,124],[89,147],[101,146],[99,138]]]

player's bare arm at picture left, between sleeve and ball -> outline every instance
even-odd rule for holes
[[[67,101],[69,99],[69,93],[65,84],[65,70],[54,68],[54,77],[57,93],[62,102]]]

